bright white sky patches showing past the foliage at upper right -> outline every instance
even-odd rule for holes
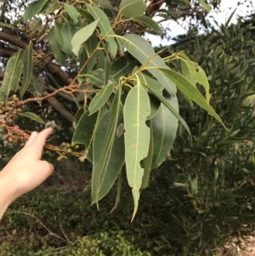
[[[239,6],[237,4],[241,3]],[[252,0],[253,6],[249,3],[248,0],[222,0],[222,3],[220,5],[220,11],[216,12],[212,10],[208,16],[212,16],[212,18],[207,18],[207,20],[210,20],[212,24],[214,23],[213,20],[217,20],[218,25],[224,24],[226,20],[228,20],[230,14],[236,9],[235,14],[230,21],[230,23],[235,23],[238,16],[245,16],[246,14],[252,14],[252,10],[254,13],[255,10],[255,1]],[[230,3],[230,4],[229,4]],[[249,5],[249,7],[247,7]],[[160,19],[159,19],[160,20]],[[170,37],[176,37],[181,34],[185,34],[186,31],[182,26],[179,26],[178,23],[174,20],[168,20],[162,23],[163,26],[169,27],[171,31],[169,32]],[[149,39],[152,45],[158,46],[158,45],[167,45],[174,43],[173,41],[167,41],[167,39],[161,40],[160,36],[153,36],[153,35],[147,35],[145,36],[146,39]]]

